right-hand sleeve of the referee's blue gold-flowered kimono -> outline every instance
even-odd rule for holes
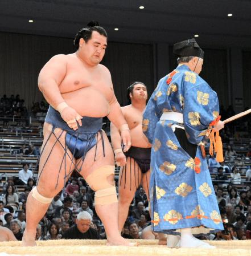
[[[205,130],[219,116],[219,101],[215,91],[203,80],[198,85],[187,83],[184,87],[183,119],[187,139],[199,144]]]

